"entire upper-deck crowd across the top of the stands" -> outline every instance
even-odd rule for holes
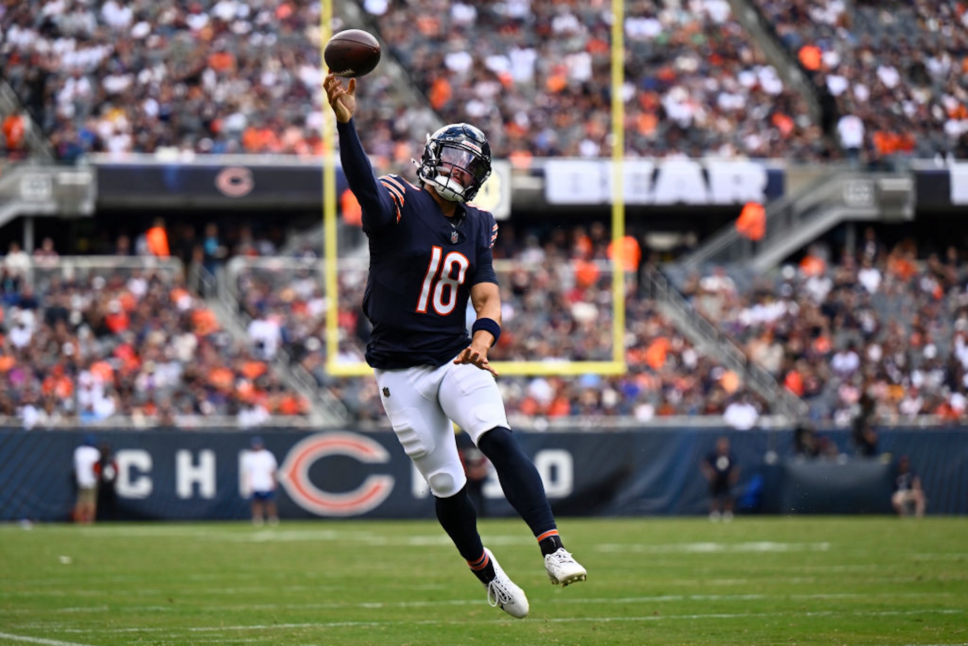
[[[831,99],[840,146],[783,81],[726,0],[635,0],[624,22],[626,151],[664,157],[886,165],[968,145],[966,18],[954,0],[752,0]],[[361,3],[426,105],[364,79],[364,144],[402,169],[437,120],[471,120],[495,154],[609,156],[608,3]],[[405,11],[406,9],[406,11]],[[0,3],[2,76],[67,161],[89,152],[316,156],[322,150],[319,5],[196,0]],[[343,28],[337,19],[334,29]],[[416,108],[416,109],[415,109]],[[854,119],[853,117],[857,117]],[[9,123],[8,123],[9,121]]]

